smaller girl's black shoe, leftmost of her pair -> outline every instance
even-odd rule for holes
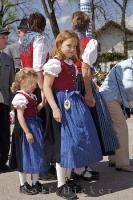
[[[32,187],[27,182],[25,182],[24,185],[20,186],[19,192],[27,195],[38,194],[38,192],[33,190]]]

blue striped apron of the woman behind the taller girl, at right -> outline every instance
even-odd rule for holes
[[[119,148],[116,132],[113,128],[106,102],[104,101],[100,92],[96,89],[96,86],[93,82],[92,89],[96,100],[97,123],[99,123],[100,128],[103,155],[111,155],[114,154],[115,150]],[[95,116],[93,118],[95,118]]]

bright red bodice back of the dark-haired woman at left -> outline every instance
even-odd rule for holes
[[[32,68],[33,66],[33,43],[30,43],[28,49],[20,54],[22,68]]]

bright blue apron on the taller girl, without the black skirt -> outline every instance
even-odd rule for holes
[[[98,134],[88,106],[78,91],[67,93],[71,103],[69,110],[64,108],[66,94],[55,93],[62,112],[60,164],[65,168],[79,168],[102,159]]]

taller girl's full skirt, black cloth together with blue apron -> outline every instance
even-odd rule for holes
[[[59,162],[64,168],[79,168],[100,161],[102,153],[98,134],[82,96],[78,91],[68,91],[71,106],[66,110],[66,92],[58,91],[54,95],[62,113],[62,122],[53,119],[47,105],[45,150],[48,160]]]

